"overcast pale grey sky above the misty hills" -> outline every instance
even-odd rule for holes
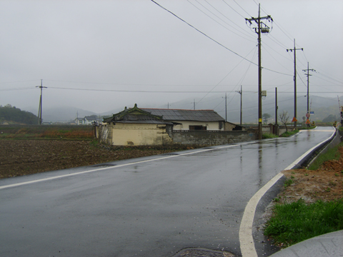
[[[259,1],[156,2],[203,34],[150,0],[1,0],[0,104],[38,111],[41,79],[48,88],[43,108],[96,113],[135,103],[205,101],[225,92],[238,98],[232,92],[241,84],[247,93],[257,91],[257,34],[244,18],[258,16]],[[299,94],[307,91],[302,69],[309,61],[317,71],[310,94],[342,95],[343,1],[260,3],[261,16],[274,20],[265,20],[272,30],[262,35],[262,89],[272,94],[277,87],[292,96],[294,54],[286,49],[294,48],[295,39],[297,49],[304,48],[297,51]]]

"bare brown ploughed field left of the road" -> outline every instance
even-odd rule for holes
[[[186,149],[187,147],[99,148],[92,146],[91,141],[0,140],[0,178]]]

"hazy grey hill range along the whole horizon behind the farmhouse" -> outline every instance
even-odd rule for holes
[[[139,108],[156,108],[156,109],[214,109],[219,115],[225,119],[225,95],[212,94],[204,99],[185,98],[177,102],[166,103],[163,105],[154,105],[151,102],[146,104],[138,104]],[[257,94],[247,92],[242,95],[242,123],[254,123],[257,121]],[[278,114],[282,111],[288,111],[289,119],[294,116],[294,95],[292,94],[278,94]],[[311,104],[311,111],[314,111],[314,116],[311,119],[314,121],[322,120],[330,114],[337,116],[339,119],[339,105],[338,99],[326,96],[311,96],[309,99]],[[340,96],[340,103],[343,104],[343,96]],[[133,107],[134,104],[127,104],[127,107]],[[98,115],[110,116],[119,111],[124,110],[125,106],[121,108],[112,109],[101,114],[97,114],[91,110],[79,109],[74,106],[56,106],[54,108],[44,108],[43,106],[43,120],[44,121],[71,121],[84,116]],[[28,107],[24,111],[30,111],[33,114],[38,114],[38,108]],[[307,97],[302,94],[297,95],[297,119],[302,122],[302,116],[305,116],[307,111]],[[240,95],[237,92],[227,94],[227,121],[239,123],[240,114]],[[262,100],[262,114],[270,114],[272,117],[269,122],[274,122],[275,117],[275,94],[268,94]]]

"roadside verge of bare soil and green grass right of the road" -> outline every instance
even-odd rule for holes
[[[284,248],[343,229],[343,143],[319,156],[309,169],[284,172],[264,235]]]

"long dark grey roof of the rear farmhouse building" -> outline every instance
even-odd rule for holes
[[[153,115],[162,116],[166,121],[225,121],[213,110],[145,109]]]

